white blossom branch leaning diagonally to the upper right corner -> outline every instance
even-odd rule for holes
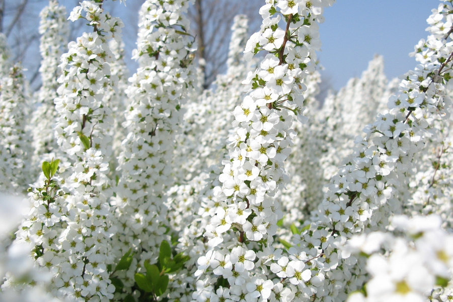
[[[384,230],[389,213],[401,211],[395,195],[406,190],[413,157],[429,136],[427,128],[433,117],[449,115],[450,100],[445,96],[449,77],[442,70],[451,64],[453,43],[436,28],[449,25],[449,31],[450,12],[450,3],[433,11],[428,19],[431,35],[421,44],[432,50],[430,60],[404,75],[399,93],[389,99],[390,112],[365,128],[364,139],[356,139],[353,153],[332,177],[312,223],[295,236],[297,252],[307,259],[312,277],[318,278],[300,287],[302,297],[344,300],[348,292],[360,288],[363,266],[338,248],[354,234]]]

